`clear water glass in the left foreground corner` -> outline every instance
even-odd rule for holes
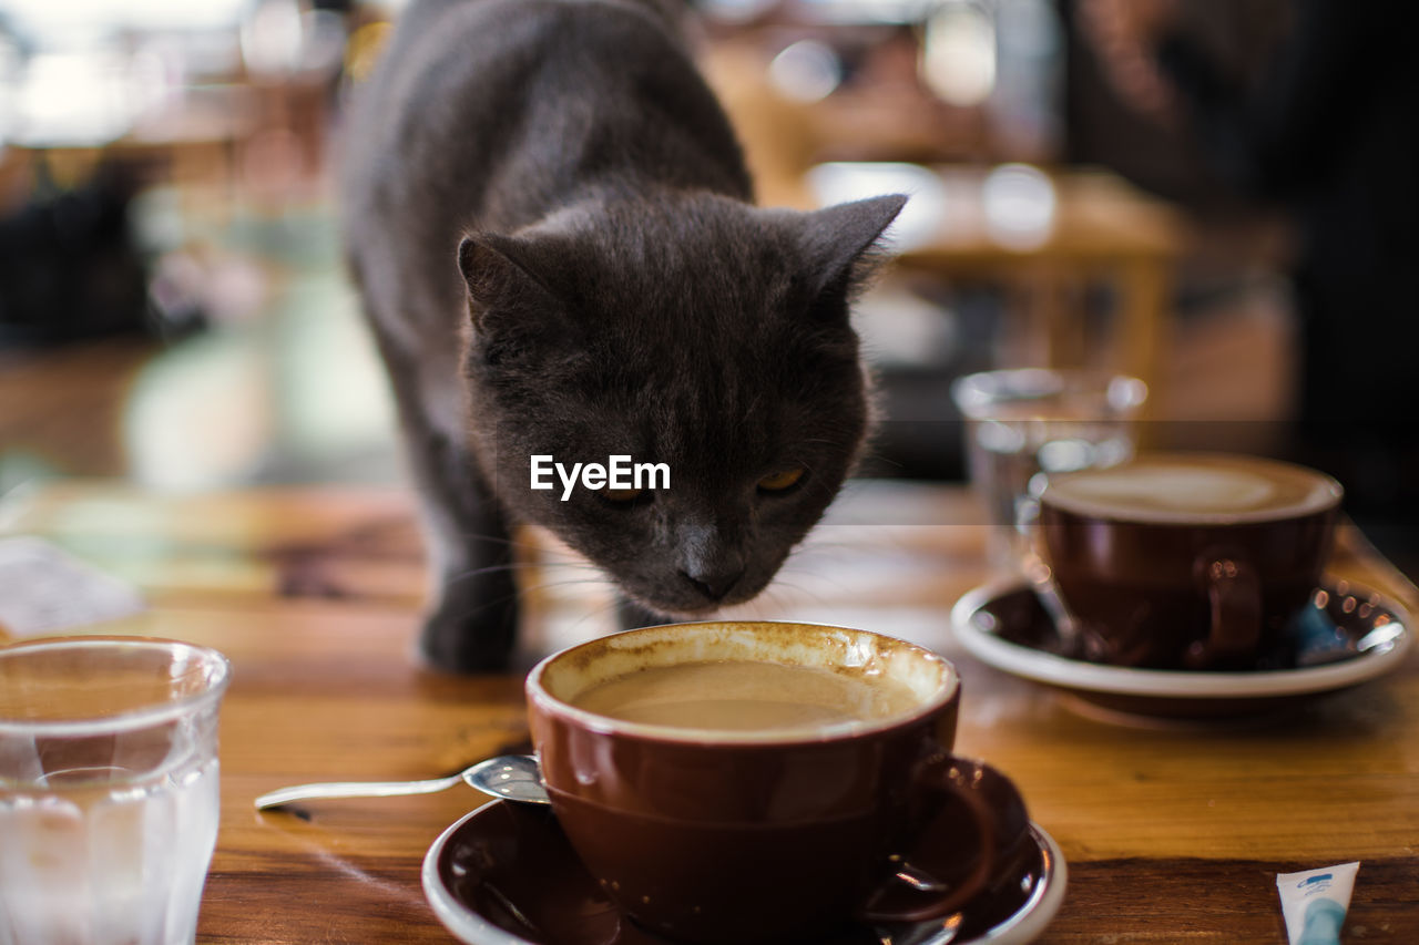
[[[217,841],[216,650],[0,647],[0,945],[190,945]]]

